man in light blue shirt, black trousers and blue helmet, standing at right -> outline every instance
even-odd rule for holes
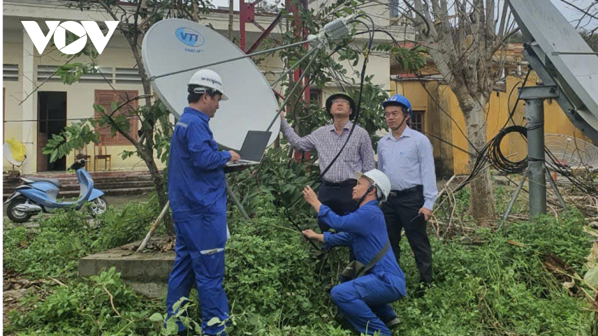
[[[436,174],[432,144],[422,133],[410,129],[411,103],[395,94],[382,103],[386,125],[390,132],[378,142],[378,169],[390,179],[390,195],[382,204],[390,246],[399,258],[401,230],[405,236],[419,270],[422,287],[432,282],[432,250],[426,221],[432,216],[436,200]]]

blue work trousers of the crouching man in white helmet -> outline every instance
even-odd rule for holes
[[[396,286],[374,274],[367,274],[334,286],[330,296],[338,307],[338,313],[356,331],[367,335],[380,331],[380,335],[390,336],[390,329],[382,320],[396,317],[388,305],[401,298]]]

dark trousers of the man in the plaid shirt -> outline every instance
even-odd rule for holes
[[[357,204],[353,200],[353,187],[357,185],[355,180],[347,180],[338,184],[323,181],[318,190],[318,199],[328,206],[339,216],[357,210]],[[330,227],[318,220],[318,226],[322,233],[330,230]]]

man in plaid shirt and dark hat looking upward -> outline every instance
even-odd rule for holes
[[[318,163],[323,172],[343,147],[349,137],[355,118],[355,101],[346,93],[335,93],[326,100],[326,111],[332,118],[332,124],[322,126],[310,135],[301,138],[286,122],[280,113],[280,130],[295,148],[302,151],[316,149]],[[344,215],[357,209],[357,204],[352,199],[353,187],[357,184],[353,173],[367,172],[374,169],[374,149],[368,132],[362,127],[355,126],[353,134],[343,149],[343,152],[334,161],[328,172],[322,178],[322,185],[318,191],[318,199],[328,206],[337,215]],[[330,227],[318,221],[322,233]]]

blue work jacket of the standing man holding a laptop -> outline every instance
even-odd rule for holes
[[[173,221],[226,212],[224,166],[228,151],[219,151],[209,117],[187,107],[175,125],[168,158],[168,198]]]

